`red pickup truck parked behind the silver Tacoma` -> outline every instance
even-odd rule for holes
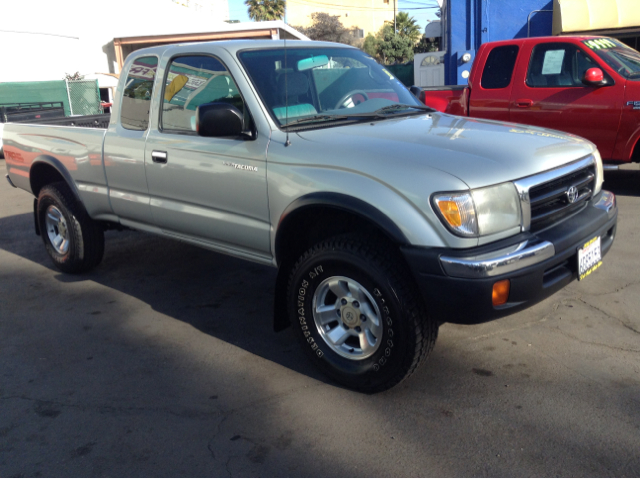
[[[445,113],[582,136],[610,164],[640,162],[640,53],[613,38],[485,43],[469,86],[425,88],[421,96]]]

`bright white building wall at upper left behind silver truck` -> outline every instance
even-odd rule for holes
[[[225,7],[202,10],[173,0],[2,0],[0,18],[11,22],[0,25],[0,82],[61,80],[76,71],[118,73],[114,38],[229,27],[223,23],[228,18],[227,0],[208,3],[214,1]]]

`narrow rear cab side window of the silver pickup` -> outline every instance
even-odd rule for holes
[[[157,68],[157,57],[137,58],[131,64],[120,107],[123,128],[145,131],[149,127],[149,108]]]

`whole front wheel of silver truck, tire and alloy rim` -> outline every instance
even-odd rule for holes
[[[287,303],[311,360],[361,392],[409,377],[438,335],[397,248],[381,240],[348,235],[308,250],[291,271]]]

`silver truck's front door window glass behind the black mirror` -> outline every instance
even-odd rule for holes
[[[249,128],[244,100],[222,62],[204,55],[174,58],[164,84],[160,129],[195,134],[196,108],[213,102],[235,106],[243,114],[245,129]]]

